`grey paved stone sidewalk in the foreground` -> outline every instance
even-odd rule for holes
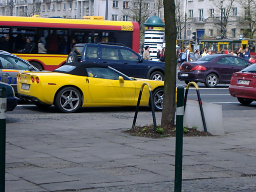
[[[175,137],[122,133],[134,113],[29,115],[7,116],[6,192],[174,191]],[[225,136],[183,137],[183,191],[256,191],[256,120],[223,121]]]

